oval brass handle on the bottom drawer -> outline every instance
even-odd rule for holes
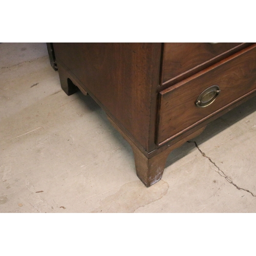
[[[221,90],[218,86],[211,86],[204,90],[197,98],[196,105],[199,108],[205,108],[210,105],[220,94]]]

